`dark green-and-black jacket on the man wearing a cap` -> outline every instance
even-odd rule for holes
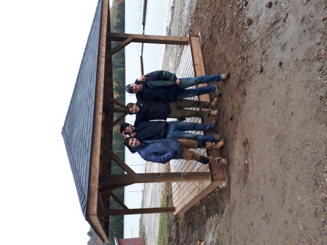
[[[144,81],[135,81],[141,84],[143,90],[136,93],[137,100],[176,101],[178,86],[176,75],[167,71],[156,71],[145,75]]]

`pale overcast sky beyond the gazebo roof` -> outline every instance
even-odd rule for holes
[[[61,128],[97,2],[0,2],[1,244],[89,240]]]

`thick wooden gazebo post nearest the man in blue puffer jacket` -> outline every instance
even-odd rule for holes
[[[133,174],[101,174],[101,184],[134,184],[155,182],[210,181],[209,172],[156,172]]]

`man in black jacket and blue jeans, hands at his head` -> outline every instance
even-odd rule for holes
[[[120,131],[124,139],[129,135],[142,142],[143,140],[157,139],[187,139],[203,142],[217,142],[218,149],[222,148],[226,143],[226,138],[222,134],[216,135],[201,135],[191,134],[185,131],[206,131],[215,129],[218,124],[218,117],[215,116],[212,123],[189,123],[189,122],[166,122],[166,121],[151,121],[141,122],[137,127],[129,123],[121,124]]]

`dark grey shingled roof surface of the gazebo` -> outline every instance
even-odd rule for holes
[[[61,131],[84,218],[86,218],[89,183],[100,18],[101,0],[97,5],[73,96]]]

